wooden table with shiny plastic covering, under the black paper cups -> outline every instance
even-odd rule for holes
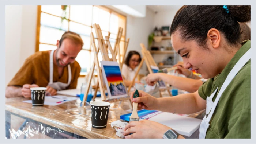
[[[128,100],[114,102],[110,105],[108,124],[104,129],[95,129],[91,127],[90,106],[81,106],[80,99],[66,102],[57,106],[32,106],[32,104],[22,102],[29,100],[23,97],[6,98],[6,129],[10,129],[11,115],[22,117],[28,121],[42,124],[44,127],[62,130],[65,134],[78,138],[120,138],[116,135],[116,130],[112,129],[110,124],[113,121],[120,120],[120,115],[130,113]],[[204,110],[189,117],[201,118],[204,116]],[[71,135],[73,134],[73,135]],[[10,138],[10,133],[6,135]]]

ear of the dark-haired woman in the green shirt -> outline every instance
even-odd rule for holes
[[[221,34],[217,29],[211,28],[207,33],[207,39],[210,41],[210,45],[213,48],[218,48],[221,42]]]

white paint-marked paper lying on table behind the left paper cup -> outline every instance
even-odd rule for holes
[[[55,98],[53,98],[53,97],[55,97]],[[67,97],[67,96],[61,96],[61,95],[57,95],[57,96],[53,96],[53,97],[46,96],[44,105],[56,106],[56,105],[60,105],[65,102],[68,102],[68,101],[74,101],[74,100],[78,99],[78,97]],[[22,102],[32,104],[32,100],[26,100],[26,101],[22,101]]]

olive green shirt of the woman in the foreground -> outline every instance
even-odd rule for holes
[[[210,97],[217,87],[217,93],[219,93],[231,69],[251,48],[250,40],[241,44],[243,46],[236,52],[221,74],[208,79],[199,87],[198,93],[204,100]],[[217,93],[212,98],[213,102]],[[210,120],[206,138],[251,138],[251,60],[238,71],[222,93]]]

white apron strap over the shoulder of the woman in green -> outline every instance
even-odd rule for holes
[[[225,79],[221,89],[219,90],[219,93],[214,101],[214,105],[212,106],[212,109],[208,115],[208,117],[206,118],[207,122],[209,123],[211,120],[211,117],[214,113],[214,110],[219,102],[219,99],[221,98],[222,93],[224,92],[224,90],[227,88],[227,86],[229,85],[229,83],[232,81],[232,79],[236,76],[236,74],[238,73],[238,71],[251,59],[251,48],[238,60],[238,62],[236,63],[236,65],[232,68],[232,70],[230,71],[230,73],[227,75],[227,78]]]

